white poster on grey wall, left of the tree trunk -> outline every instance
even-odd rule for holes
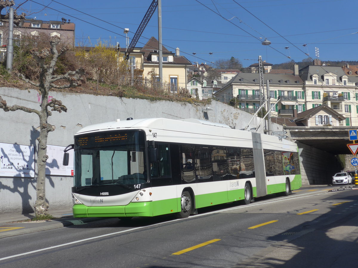
[[[0,143],[0,177],[35,178],[35,147]]]

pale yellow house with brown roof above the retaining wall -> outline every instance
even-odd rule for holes
[[[153,82],[156,77],[159,81],[159,42],[153,36],[142,48],[134,48],[129,58],[134,58],[136,72],[141,73],[144,83]],[[125,50],[121,49],[122,52]],[[172,53],[162,45],[163,55],[163,84],[164,89],[170,89],[173,93],[178,88],[187,88],[187,66],[192,63],[184,56],[179,55],[179,48]],[[154,68],[154,69],[153,69]],[[154,72],[153,72],[154,70]]]

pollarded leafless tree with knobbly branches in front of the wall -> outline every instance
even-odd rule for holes
[[[34,205],[36,216],[45,216],[48,214],[49,204],[46,202],[45,197],[45,168],[47,155],[47,137],[50,131],[55,130],[55,126],[50,125],[47,120],[52,111],[66,112],[67,108],[62,104],[61,100],[52,99],[48,102],[49,91],[52,88],[65,89],[74,88],[80,85],[81,75],[84,74],[83,69],[77,69],[75,71],[67,71],[62,75],[54,75],[55,64],[57,59],[66,53],[68,50],[67,46],[63,46],[61,51],[58,51],[56,46],[59,44],[60,39],[58,36],[54,36],[50,40],[50,48],[45,48],[39,51],[38,49],[31,50],[31,54],[40,66],[39,82],[35,83],[29,79],[26,79],[23,74],[16,73],[21,79],[27,83],[35,86],[37,91],[41,95],[41,109],[36,110],[25,106],[13,105],[8,106],[6,101],[0,96],[0,108],[4,111],[16,111],[21,110],[26,113],[35,113],[39,116],[40,123],[40,135],[37,138],[39,143],[39,149],[37,154],[37,182],[36,182],[36,194],[37,199]],[[59,80],[67,81],[64,85],[54,84]]]

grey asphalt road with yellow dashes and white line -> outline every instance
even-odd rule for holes
[[[1,267],[357,267],[357,188],[1,238]]]

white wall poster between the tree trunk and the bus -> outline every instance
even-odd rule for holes
[[[47,145],[46,175],[73,176],[73,150],[68,151],[68,166],[62,165],[63,150],[65,148],[63,146]]]

